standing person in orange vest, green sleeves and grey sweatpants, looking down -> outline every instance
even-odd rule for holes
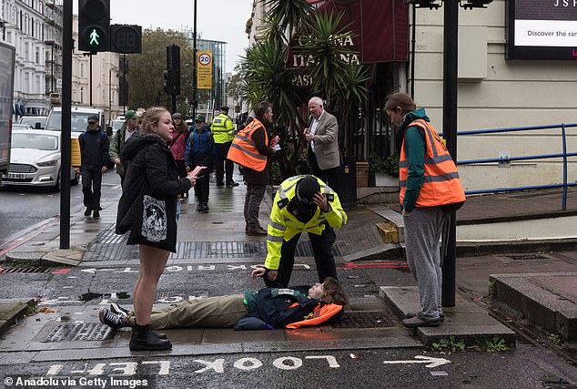
[[[416,109],[406,93],[387,98],[385,110],[399,126],[400,205],[405,224],[407,262],[417,281],[420,312],[409,312],[407,327],[437,327],[441,310],[440,236],[449,210],[465,201],[457,167],[424,108]]]

